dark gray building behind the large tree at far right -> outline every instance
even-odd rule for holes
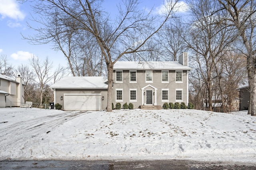
[[[239,90],[239,99],[240,99],[240,105],[239,110],[248,110],[249,106],[249,100],[250,100],[250,91],[249,86],[240,87],[237,90]]]

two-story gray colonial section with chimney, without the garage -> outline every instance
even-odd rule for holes
[[[179,61],[117,61],[114,65],[112,101],[122,105],[188,104],[188,53]]]

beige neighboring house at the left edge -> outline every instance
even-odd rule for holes
[[[20,75],[16,79],[0,74],[0,107],[16,107],[24,103],[24,84]]]

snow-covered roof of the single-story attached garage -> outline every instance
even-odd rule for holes
[[[52,89],[107,89],[107,77],[63,77]]]

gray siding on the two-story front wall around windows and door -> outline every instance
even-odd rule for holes
[[[182,101],[187,104],[187,71],[183,70],[182,73],[182,83],[176,83],[176,73],[175,70],[169,70],[169,83],[162,83],[162,70],[153,70],[153,82],[146,83],[146,72],[145,70],[137,70],[137,83],[130,83],[130,72],[129,70],[123,70],[123,83],[116,83],[116,73],[113,72],[113,80],[114,80],[114,87],[112,91],[112,102],[114,105],[116,103],[132,103],[134,108],[138,108],[142,105],[142,88],[147,85],[152,85],[153,87],[157,88],[156,90],[156,101],[155,95],[152,96],[152,103],[156,103],[157,105],[163,105],[162,102],[162,89],[169,90],[169,102],[175,103],[176,102],[176,89],[182,89]],[[116,89],[123,89],[123,101],[116,101]],[[137,89],[137,101],[130,102],[130,89]],[[155,92],[152,87],[146,87],[146,90],[152,90]],[[146,101],[146,96],[144,96],[144,103]]]

